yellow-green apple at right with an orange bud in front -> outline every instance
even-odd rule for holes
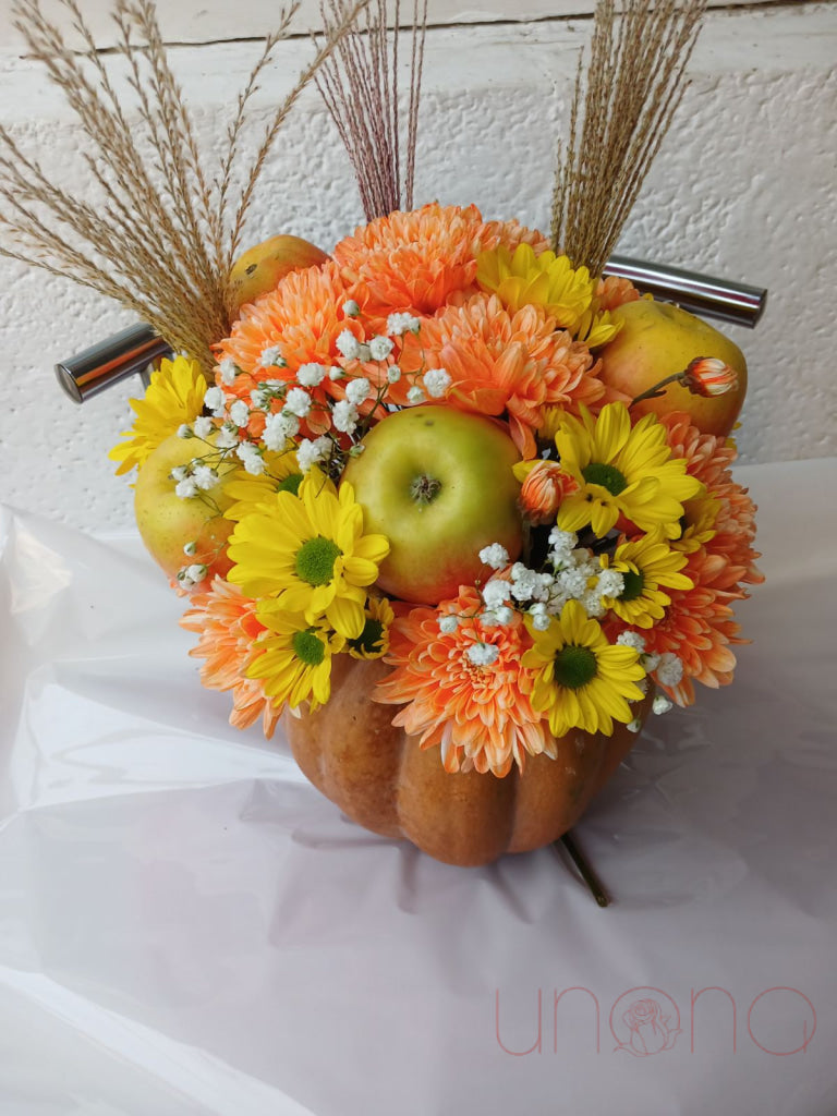
[[[730,433],[747,392],[747,362],[741,349],[718,329],[671,302],[641,298],[613,311],[622,329],[602,349],[602,379],[636,398],[661,379],[684,372],[698,357],[715,357],[738,373],[738,383],[723,395],[693,395],[682,384],[668,384],[657,398],[643,400],[635,415],[685,411],[704,434]]]

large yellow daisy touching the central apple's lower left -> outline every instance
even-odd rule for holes
[[[308,624],[325,617],[346,639],[366,620],[366,587],[389,552],[383,535],[363,533],[363,510],[350,484],[339,492],[311,469],[299,496],[276,492],[239,520],[230,536],[228,580],[250,597],[273,598]]]

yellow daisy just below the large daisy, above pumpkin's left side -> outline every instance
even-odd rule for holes
[[[276,705],[297,709],[307,701],[311,711],[325,705],[331,696],[331,656],[343,651],[343,636],[285,612],[272,600],[259,605],[256,618],[270,634],[259,639],[261,654],[248,666],[247,676],[259,679]]]

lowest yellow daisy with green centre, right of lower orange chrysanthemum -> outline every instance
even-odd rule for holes
[[[645,677],[634,647],[608,643],[578,600],[568,600],[546,632],[536,631],[529,617],[526,626],[533,646],[521,663],[537,671],[530,701],[547,714],[554,737],[570,729],[609,735],[614,721],[633,720],[628,702],[642,700],[636,683]]]

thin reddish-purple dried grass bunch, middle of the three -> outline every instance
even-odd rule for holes
[[[327,33],[345,19],[346,7],[346,0],[320,4]],[[389,33],[386,0],[376,0],[367,9],[365,27],[355,27],[340,40],[316,78],[348,152],[367,221],[413,208],[427,0],[413,2],[406,136],[398,96],[401,15],[395,0]]]

